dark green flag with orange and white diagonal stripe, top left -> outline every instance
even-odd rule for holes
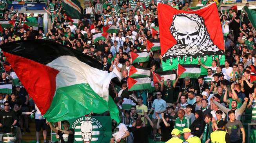
[[[63,0],[62,4],[68,16],[80,19],[81,5],[78,0]]]

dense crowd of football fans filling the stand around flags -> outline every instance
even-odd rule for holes
[[[152,135],[157,140],[158,134],[161,134],[161,141],[167,143],[245,143],[245,129],[241,118],[246,108],[252,108],[251,122],[256,123],[256,85],[250,82],[250,75],[255,72],[252,67],[256,66],[256,31],[246,14],[232,9],[219,12],[225,39],[225,64],[220,65],[216,59],[211,66],[205,66],[199,61],[198,64],[207,69],[207,75],[198,79],[180,79],[177,76],[174,83],[170,79],[158,79],[154,91],[147,96],[146,90],[129,91],[127,88],[126,80],[132,66],[131,51],[147,51],[146,40],[160,38],[159,33],[156,36],[151,33],[153,27],[158,27],[157,3],[188,11],[189,1],[84,2],[86,6],[81,9],[81,19],[74,23],[74,20],[65,15],[61,0],[48,1],[44,10],[48,13],[51,24],[44,32],[43,25],[46,23],[43,24],[41,14],[34,17],[33,13],[18,13],[13,7],[6,9],[7,2],[2,0],[0,8],[4,9],[4,15],[0,20],[15,20],[15,25],[2,30],[0,44],[27,39],[51,40],[93,57],[103,64],[105,70],[116,73],[122,79],[122,86],[116,87],[114,101],[122,120],[118,125],[113,123],[111,142],[148,143],[148,136]],[[215,1],[199,0],[197,6],[212,2]],[[25,26],[25,22],[36,23],[38,30]],[[108,33],[107,38],[96,41],[93,36],[103,32],[103,27],[116,27],[117,30],[115,33]],[[150,68],[153,74],[153,71],[162,70],[161,61],[160,50],[156,50],[150,52],[148,62],[133,63],[133,66]],[[2,63],[4,62],[3,57]],[[167,85],[164,85],[164,80]],[[0,82],[12,82],[12,77],[8,72],[3,72]],[[30,132],[28,114],[33,111],[36,113],[37,141],[39,143],[41,127],[46,141],[49,123],[46,123],[38,109],[34,110],[33,100],[29,100],[22,83],[14,86],[10,95],[0,93],[0,129],[2,132],[10,132],[10,127],[17,125],[20,128],[18,132]],[[180,88],[177,89],[176,86]],[[122,102],[128,99],[134,105],[125,110]],[[6,117],[10,120],[5,120]],[[54,128],[53,125],[50,126]],[[67,132],[54,130],[58,134]],[[72,136],[74,132],[69,130],[68,134]],[[21,133],[18,138],[20,142]]]

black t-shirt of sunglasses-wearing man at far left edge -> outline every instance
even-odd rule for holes
[[[17,120],[16,114],[10,110],[9,112],[5,112],[4,110],[0,112],[0,123],[3,125],[0,129],[1,132],[10,132],[11,125],[15,120]]]

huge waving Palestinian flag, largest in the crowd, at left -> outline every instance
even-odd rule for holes
[[[49,122],[105,111],[119,122],[119,111],[108,90],[116,75],[103,71],[98,61],[42,39],[15,41],[0,48]]]

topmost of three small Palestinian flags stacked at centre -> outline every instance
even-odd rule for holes
[[[132,63],[147,62],[149,61],[148,52],[131,52]]]

